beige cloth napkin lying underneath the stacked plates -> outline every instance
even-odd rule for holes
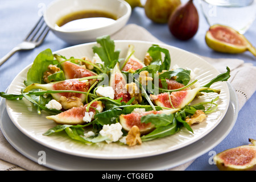
[[[111,36],[114,40],[144,40],[155,43],[162,43],[150,34],[143,27],[136,24],[128,24]],[[201,56],[203,57],[203,56]],[[256,67],[251,64],[245,64],[243,60],[238,59],[211,59],[203,57],[220,72],[226,71],[226,66],[231,70],[230,84],[236,90],[239,109],[253,95],[256,90]],[[250,73],[250,74],[248,74]],[[182,164],[178,167],[168,170],[184,170],[191,162]],[[51,170],[38,163],[32,162],[25,156],[16,151],[3,137],[0,131],[0,170]]]

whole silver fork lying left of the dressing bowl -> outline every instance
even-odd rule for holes
[[[38,20],[35,27],[31,30],[31,32],[26,36],[22,43],[18,44],[18,46],[11,49],[7,55],[3,56],[0,60],[0,66],[5,63],[11,56],[14,55],[15,52],[20,50],[29,50],[34,49],[35,47],[42,44],[44,38],[48,34],[49,27],[44,22],[43,16]]]

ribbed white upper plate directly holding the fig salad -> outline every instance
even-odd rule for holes
[[[139,59],[143,59],[144,54],[147,49],[152,45],[148,42],[138,42],[138,41],[116,41],[115,48],[120,48],[120,57],[125,57],[127,48],[129,44],[134,44],[135,55]],[[66,57],[82,57],[82,56],[93,56],[92,46],[96,43],[81,44],[79,46],[73,46],[57,51]],[[160,45],[160,47],[167,48],[171,54],[171,65],[179,65],[181,68],[199,68],[199,73],[197,80],[203,85],[209,82],[213,77],[217,76],[218,71],[208,64],[200,57],[193,55],[187,51],[183,51],[179,48]],[[31,65],[30,65],[31,66]],[[22,72],[16,76],[11,83],[8,93],[19,94],[20,89],[24,87],[23,81],[26,80],[27,71],[30,68],[28,66]],[[141,158],[146,156],[159,155],[166,152],[174,151],[179,148],[188,146],[193,142],[203,138],[210,131],[214,129],[220,123],[229,106],[229,89],[226,82],[217,82],[211,86],[215,89],[221,89],[221,93],[218,95],[220,100],[218,101],[218,109],[208,115],[206,121],[200,123],[200,125],[195,125],[192,127],[194,133],[187,131],[186,129],[181,129],[179,133],[172,135],[170,137],[151,140],[144,142],[142,145],[127,147],[120,146],[116,143],[106,144],[93,144],[87,146],[81,142],[76,142],[69,139],[65,135],[51,135],[44,136],[48,129],[56,126],[56,124],[48,119],[46,119],[47,113],[42,113],[38,115],[36,110],[30,102],[27,100],[22,101],[6,101],[6,110],[9,114],[14,125],[18,127],[22,133],[35,140],[36,142],[43,144],[53,150],[64,152],[71,155],[82,156],[87,158],[97,158],[97,159],[131,159],[131,158]],[[212,100],[216,97],[215,93],[205,94],[200,101]]]

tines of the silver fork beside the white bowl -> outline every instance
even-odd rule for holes
[[[38,20],[38,23],[36,23],[35,27],[24,40],[27,42],[42,42],[48,34],[48,31],[49,27],[44,22],[43,16],[41,16],[41,18]]]

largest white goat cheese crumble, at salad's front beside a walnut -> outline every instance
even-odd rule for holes
[[[120,123],[115,123],[111,125],[104,125],[100,131],[102,137],[108,137],[107,143],[117,142],[119,138],[122,137],[122,125]]]

